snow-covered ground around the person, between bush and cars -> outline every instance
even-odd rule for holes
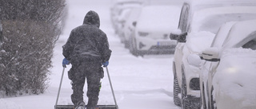
[[[56,102],[58,85],[62,76],[62,45],[69,37],[71,29],[82,25],[83,18],[89,10],[98,12],[101,18],[101,29],[106,32],[110,49],[109,71],[114,92],[120,109],[178,109],[173,103],[172,55],[165,56],[132,56],[128,49],[114,34],[110,22],[111,0],[67,0],[69,14],[66,28],[54,49],[53,65],[50,75],[50,86],[41,95],[23,95],[0,99],[1,109],[50,109]],[[69,65],[65,69],[62,90],[58,104],[72,104],[70,80],[67,77]],[[86,91],[86,87],[84,88]],[[114,104],[110,84],[106,75],[102,79],[102,89],[98,104]],[[84,95],[85,102],[87,100]]]

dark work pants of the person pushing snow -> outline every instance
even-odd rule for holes
[[[72,80],[73,94],[71,100],[74,107],[83,102],[83,87],[87,81],[87,108],[96,107],[98,95],[101,87],[100,80],[103,77],[103,69],[98,62],[78,62],[72,63],[69,78]]]

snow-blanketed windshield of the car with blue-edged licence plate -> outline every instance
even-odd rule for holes
[[[170,29],[175,29],[178,26],[179,10],[178,6],[168,5],[143,7],[138,18],[137,28],[146,31],[154,31],[156,29],[169,31]]]

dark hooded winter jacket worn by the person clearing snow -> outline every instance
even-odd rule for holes
[[[78,60],[99,60],[105,62],[110,59],[111,50],[104,33],[99,29],[98,14],[90,10],[84,18],[83,25],[73,29],[66,44],[62,46],[63,56],[70,63]]]

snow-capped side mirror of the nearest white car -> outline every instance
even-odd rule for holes
[[[200,54],[200,58],[201,60],[217,62],[220,61],[219,54],[220,53],[218,48],[209,48],[202,51],[202,54]]]

